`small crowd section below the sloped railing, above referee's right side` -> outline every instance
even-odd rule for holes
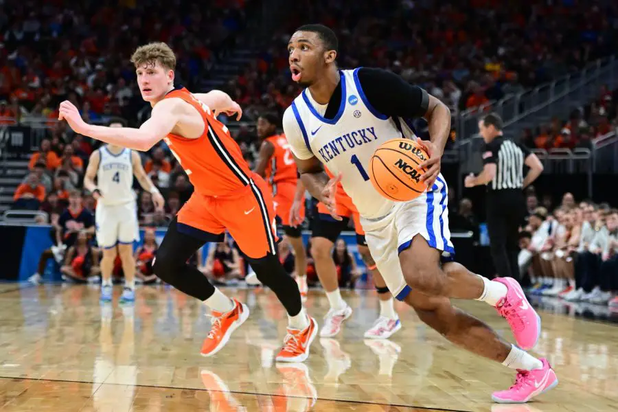
[[[536,130],[524,130],[522,141],[529,148],[588,148],[593,139],[618,128],[618,89],[603,86],[597,100],[575,108],[569,119],[554,117]]]

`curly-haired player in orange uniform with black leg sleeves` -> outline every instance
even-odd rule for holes
[[[260,281],[275,293],[288,312],[288,334],[277,361],[301,362],[317,334],[297,284],[277,258],[273,199],[264,180],[249,170],[240,148],[216,113],[242,114],[240,106],[220,91],[192,94],[174,87],[176,57],[165,43],[139,47],[131,61],[141,96],[152,115],[140,128],[86,124],[71,102],[60,104],[59,119],[82,135],[108,144],[146,151],[164,139],[185,170],[195,192],[168,227],[154,263],[155,274],[212,310],[212,326],[201,354],[211,356],[249,316],[249,308],[212,286],[187,260],[205,242],[222,242],[227,229],[251,260]],[[212,111],[214,111],[214,113]]]

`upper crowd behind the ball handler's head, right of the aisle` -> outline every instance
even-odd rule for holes
[[[442,99],[453,113],[474,109],[615,53],[613,1],[503,2],[305,0],[273,33],[252,65],[229,81],[246,113],[283,111],[299,93],[286,45],[304,23],[339,36],[339,65],[399,73]]]

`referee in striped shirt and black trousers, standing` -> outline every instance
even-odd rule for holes
[[[526,214],[523,189],[543,171],[534,153],[502,134],[503,122],[491,113],[479,121],[485,141],[483,172],[466,176],[464,185],[487,185],[487,230],[494,266],[500,277],[519,280],[519,227]],[[525,178],[524,165],[529,168]]]

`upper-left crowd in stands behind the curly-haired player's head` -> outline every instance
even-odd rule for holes
[[[258,3],[88,0],[67,8],[62,1],[5,0],[0,5],[0,117],[54,119],[58,104],[68,99],[87,121],[118,116],[136,124],[146,104],[129,58],[139,45],[170,44],[178,61],[176,80],[195,88],[242,38]]]

